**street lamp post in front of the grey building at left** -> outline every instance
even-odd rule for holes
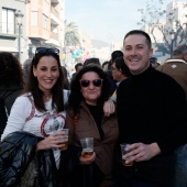
[[[19,47],[19,61],[21,63],[21,26],[22,26],[23,13],[20,10],[18,10],[15,12],[15,16],[16,16],[16,24],[19,26],[18,47]]]

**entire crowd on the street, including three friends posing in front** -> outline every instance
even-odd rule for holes
[[[123,52],[77,63],[70,79],[57,48],[37,47],[24,72],[11,53],[0,62],[0,186],[187,186],[186,44],[160,65],[132,30]]]

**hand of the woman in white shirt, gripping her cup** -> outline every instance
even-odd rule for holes
[[[64,134],[64,132],[55,132],[53,134],[50,134],[44,140],[40,141],[36,146],[36,151],[40,150],[50,150],[50,148],[59,148],[62,146],[65,146],[63,142],[67,142],[68,136]]]

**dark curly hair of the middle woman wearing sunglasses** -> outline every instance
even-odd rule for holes
[[[101,96],[99,97],[97,105],[98,106],[103,106],[103,102],[109,99],[110,97],[110,80],[107,76],[107,74],[98,66],[96,65],[90,65],[86,66],[80,72],[76,75],[76,77],[73,79],[70,84],[70,95],[69,95],[69,100],[68,100],[68,107],[69,109],[73,109],[74,116],[78,114],[79,112],[79,105],[81,100],[84,99],[82,94],[80,91],[80,82],[79,80],[81,79],[82,75],[88,73],[88,72],[94,72],[99,75],[102,81],[102,87],[101,87]]]

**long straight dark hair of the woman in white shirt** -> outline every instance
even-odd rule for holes
[[[37,77],[35,77],[33,74],[33,67],[35,67],[35,68],[37,67],[37,64],[43,56],[53,56],[57,61],[59,77],[58,77],[56,84],[54,85],[54,87],[52,88],[52,107],[54,108],[56,106],[57,112],[64,111],[64,109],[65,109],[64,94],[63,94],[64,76],[63,76],[63,72],[61,69],[58,54],[52,53],[51,51],[46,51],[44,53],[37,53],[33,57],[32,63],[31,63],[28,84],[25,86],[25,89],[23,90],[23,94],[31,92],[34,98],[34,105],[35,105],[36,109],[40,111],[46,111],[45,103],[43,100],[44,92],[38,88]]]

